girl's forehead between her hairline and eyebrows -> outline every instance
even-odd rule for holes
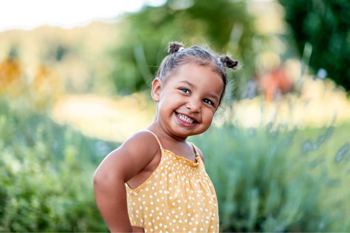
[[[188,85],[203,92],[217,94],[218,97],[220,97],[224,88],[222,77],[214,72],[211,66],[194,63],[180,66],[174,77],[169,81],[173,85]]]

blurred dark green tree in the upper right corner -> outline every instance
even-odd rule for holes
[[[279,0],[286,9],[299,52],[312,45],[309,65],[324,68],[337,84],[350,90],[350,1]]]

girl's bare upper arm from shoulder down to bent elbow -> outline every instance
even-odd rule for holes
[[[158,150],[158,141],[151,132],[137,131],[106,156],[95,175],[111,179],[118,176],[127,182],[151,162]]]

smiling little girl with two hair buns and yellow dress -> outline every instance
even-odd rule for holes
[[[106,156],[93,187],[111,232],[219,232],[218,203],[199,148],[238,61],[170,43],[152,82],[155,121]]]

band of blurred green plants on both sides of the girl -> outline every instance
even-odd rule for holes
[[[84,137],[5,98],[0,109],[0,232],[108,232],[92,178],[120,144]],[[220,231],[348,232],[349,128],[224,124],[191,137],[215,186]]]

